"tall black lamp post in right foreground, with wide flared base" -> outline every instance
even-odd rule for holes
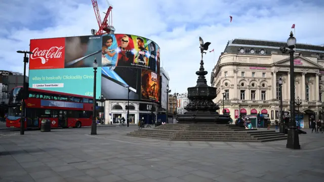
[[[290,37],[287,40],[287,45],[290,54],[290,122],[286,148],[289,149],[300,149],[298,131],[296,130],[295,121],[295,70],[294,70],[294,53],[296,38],[291,31]]]

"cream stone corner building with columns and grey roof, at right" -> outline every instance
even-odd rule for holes
[[[217,88],[214,102],[219,104],[220,113],[224,106],[233,119],[240,115],[253,118],[259,113],[263,123],[279,121],[280,77],[283,109],[290,110],[290,56],[282,54],[280,47],[287,47],[286,42],[248,39],[228,42],[211,75],[211,85]],[[299,117],[302,128],[309,128],[310,116],[316,120],[323,118],[324,47],[297,44],[294,66],[296,98],[302,100],[299,114],[295,107],[296,119]]]

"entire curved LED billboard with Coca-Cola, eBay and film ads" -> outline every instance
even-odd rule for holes
[[[149,39],[130,34],[37,39],[30,40],[30,50],[30,88],[91,96],[96,59],[97,98],[127,99],[129,88],[132,100],[159,102],[160,48]]]

